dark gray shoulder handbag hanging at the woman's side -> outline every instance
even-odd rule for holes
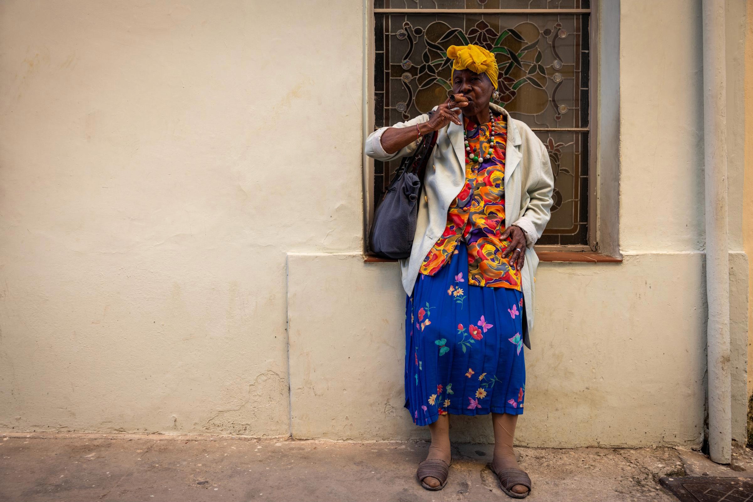
[[[374,211],[369,233],[369,249],[382,258],[407,258],[413,247],[413,233],[419,214],[419,196],[437,131],[429,132],[410,157],[403,157],[400,167]]]

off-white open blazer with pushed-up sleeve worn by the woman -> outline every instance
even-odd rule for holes
[[[508,143],[505,150],[505,227],[516,225],[526,234],[526,260],[520,271],[523,291],[524,315],[523,342],[531,348],[529,332],[533,328],[534,282],[538,256],[533,245],[541,237],[550,218],[554,176],[549,154],[541,140],[520,120],[504,108],[489,105],[497,113],[505,114],[508,126]],[[397,123],[392,127],[411,127],[428,121],[428,115]],[[366,154],[377,160],[392,160],[413,154],[418,140],[395,154],[382,148],[383,127],[366,138]],[[419,275],[421,263],[428,251],[439,240],[447,225],[447,210],[465,185],[465,149],[463,129],[450,122],[439,129],[437,145],[429,159],[419,199],[419,215],[410,257],[400,260],[403,288],[413,293],[413,284]]]

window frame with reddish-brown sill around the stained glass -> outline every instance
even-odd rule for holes
[[[588,9],[375,9],[373,0],[364,0],[364,130],[363,138],[373,132],[375,122],[374,103],[374,16],[375,14],[589,14],[589,127],[588,127],[588,230],[587,245],[535,245],[541,261],[557,262],[621,262],[622,256],[618,245],[618,200],[619,200],[619,159],[618,141],[611,145],[602,145],[599,139],[603,132],[613,140],[619,138],[619,12],[620,0],[591,0]],[[606,12],[605,12],[606,11]],[[608,14],[608,18],[605,17]],[[608,29],[612,42],[608,50],[602,50],[605,41],[605,20],[609,20]],[[616,23],[615,23],[616,21]],[[614,44],[616,33],[617,43]],[[605,59],[609,57],[610,59]],[[616,61],[616,68],[615,68]],[[611,75],[605,75],[610,71]],[[616,78],[615,78],[616,76]],[[608,85],[600,86],[608,77]],[[602,92],[606,90],[605,94]],[[608,106],[605,98],[611,99]],[[614,102],[616,99],[616,103]],[[608,117],[600,117],[608,108]],[[608,120],[602,126],[602,118]],[[605,130],[606,129],[606,130]],[[563,128],[562,130],[568,130]],[[616,130],[616,134],[615,134]],[[544,131],[545,132],[545,131]],[[392,262],[370,254],[368,246],[368,229],[373,218],[374,190],[373,159],[363,156],[363,248],[364,261]],[[604,169],[606,167],[607,169]],[[605,172],[602,172],[605,171]],[[604,176],[605,175],[605,176]],[[602,197],[602,192],[605,197]],[[605,207],[602,207],[605,206]],[[600,211],[604,209],[604,211]],[[606,238],[606,239],[604,239]],[[604,244],[600,244],[604,239]]]

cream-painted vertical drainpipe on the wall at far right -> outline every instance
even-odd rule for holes
[[[703,0],[703,157],[706,178],[706,348],[709,455],[732,461],[730,390],[730,257],[727,233],[727,65],[724,0]]]

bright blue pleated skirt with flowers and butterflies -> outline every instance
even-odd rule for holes
[[[406,300],[405,407],[413,422],[439,415],[523,413],[523,294],[468,286],[467,246]]]

